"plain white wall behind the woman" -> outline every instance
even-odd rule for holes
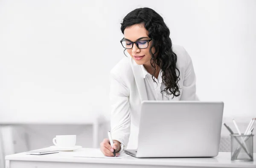
[[[255,117],[255,0],[1,0],[0,121],[108,117],[120,23],[144,6],[189,52],[200,99],[224,101],[227,121]]]

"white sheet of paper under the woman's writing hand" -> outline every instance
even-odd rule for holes
[[[77,151],[76,153],[73,154],[74,157],[94,157],[94,158],[108,158],[108,159],[121,159],[124,157],[128,157],[130,155],[128,154],[120,154],[117,157],[112,157],[112,156],[105,156],[102,154],[100,149],[94,149],[94,148],[87,148],[86,151]]]

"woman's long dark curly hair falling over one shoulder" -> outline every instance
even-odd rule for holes
[[[180,96],[180,88],[178,81],[180,80],[180,71],[176,67],[177,55],[172,51],[172,41],[170,30],[157,12],[150,8],[138,8],[128,13],[121,23],[121,31],[124,34],[125,28],[134,24],[143,23],[145,29],[148,31],[148,37],[152,39],[149,53],[151,55],[150,64],[153,69],[152,78],[157,72],[156,65],[158,65],[162,72],[162,81],[166,86],[164,90],[167,95]],[[152,48],[155,52],[152,53]],[[125,50],[124,50],[125,52]],[[154,56],[157,53],[157,56]],[[176,70],[178,75],[176,74]],[[168,92],[169,91],[169,92]]]

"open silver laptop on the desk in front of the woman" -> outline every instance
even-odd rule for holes
[[[218,155],[222,101],[143,101],[138,158],[214,157]]]

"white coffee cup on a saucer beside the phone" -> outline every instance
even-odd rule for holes
[[[73,148],[76,145],[76,135],[56,135],[52,142],[59,148]]]

